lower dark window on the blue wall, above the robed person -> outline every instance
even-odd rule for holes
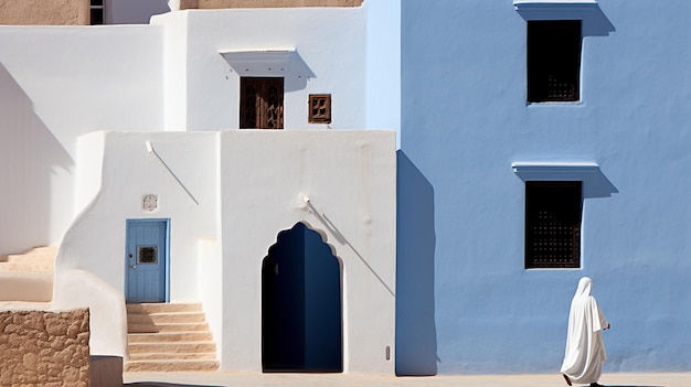
[[[580,181],[525,182],[525,268],[581,267]]]

